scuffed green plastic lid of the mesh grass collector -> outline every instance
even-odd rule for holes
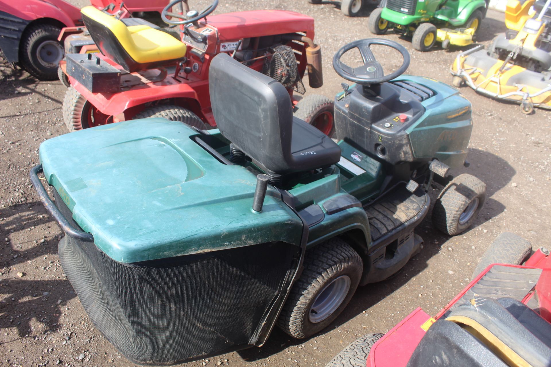
[[[47,182],[95,245],[139,262],[283,241],[302,222],[268,187],[252,211],[255,174],[225,165],[181,122],[150,118],[81,130],[40,145]]]

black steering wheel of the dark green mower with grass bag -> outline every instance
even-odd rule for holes
[[[399,67],[395,72],[385,75],[381,64],[375,59],[374,54],[371,52],[371,45],[388,46],[401,53],[404,58],[401,67]],[[343,54],[353,48],[358,48],[360,51],[361,58],[364,59],[363,66],[351,68],[341,62],[341,57]],[[335,69],[337,74],[341,75],[346,80],[353,81],[357,84],[370,86],[372,84],[384,83],[385,81],[392,80],[402,75],[406,72],[409,66],[409,61],[409,52],[406,50],[406,47],[390,40],[369,38],[350,42],[348,45],[342,47],[341,50],[337,51],[333,57],[333,69]]]

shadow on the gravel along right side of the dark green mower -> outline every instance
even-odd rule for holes
[[[501,202],[491,198],[497,191],[504,188],[511,181],[516,171],[503,158],[491,154],[487,151],[479,149],[468,150],[468,161],[471,166],[468,168],[453,169],[451,172],[454,176],[462,173],[469,173],[483,180],[487,185],[486,202],[482,211],[472,226],[467,229],[473,231],[481,224],[491,220],[504,211],[505,206]],[[431,202],[434,203],[436,197],[440,193],[442,187],[439,184],[433,184],[433,190],[429,192]],[[450,239],[448,235],[438,231],[431,220],[433,205],[423,222],[415,229],[415,232],[422,235],[425,246],[421,252],[409,260],[406,266],[402,268],[396,275],[386,281],[379,283],[368,284],[365,287],[359,287],[354,297],[344,309],[343,313],[337,317],[333,324],[329,325],[321,334],[326,333],[335,328],[341,327],[343,324],[360,315],[365,310],[369,310],[371,306],[379,303],[381,300],[388,297],[397,289],[406,284],[410,278],[418,275],[428,267],[428,261],[439,253],[441,245]],[[461,236],[459,237],[461,238]],[[444,304],[442,304],[444,306]],[[412,310],[414,305],[412,305]],[[311,338],[317,335],[312,336]],[[310,339],[310,338],[309,338]],[[309,339],[294,339],[288,336],[278,327],[274,327],[272,335],[261,348],[250,348],[241,350],[240,357],[246,361],[255,361],[262,358],[268,358],[270,355],[277,354],[289,346],[296,346],[305,343]]]

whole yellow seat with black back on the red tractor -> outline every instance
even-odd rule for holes
[[[186,54],[184,43],[161,30],[148,25],[126,26],[94,7],[84,7],[80,13],[100,52],[127,72],[175,63]]]

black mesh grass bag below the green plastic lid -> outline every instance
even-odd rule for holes
[[[261,344],[300,256],[277,242],[122,264],[68,235],[58,251],[98,330],[128,359],[155,365]]]

